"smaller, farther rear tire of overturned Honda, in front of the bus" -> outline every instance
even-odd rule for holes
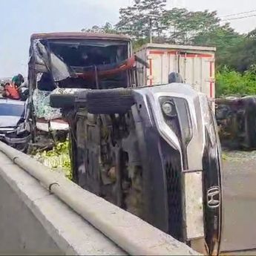
[[[50,106],[52,108],[73,108],[75,105],[74,94],[51,94],[50,95]]]

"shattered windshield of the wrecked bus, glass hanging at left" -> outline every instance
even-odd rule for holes
[[[63,88],[126,87],[129,42],[89,39],[36,39],[36,62]],[[128,68],[123,68],[127,65]],[[122,67],[122,69],[120,68]],[[49,90],[51,91],[51,90]]]

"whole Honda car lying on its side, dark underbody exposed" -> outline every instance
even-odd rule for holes
[[[220,142],[206,95],[171,83],[53,94],[50,104],[70,125],[76,183],[200,252],[218,253]]]

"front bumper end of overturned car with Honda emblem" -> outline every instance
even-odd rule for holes
[[[220,240],[221,160],[207,97],[180,84],[141,88],[134,95],[132,111],[150,184],[146,218],[179,240],[205,239],[212,247],[212,240]],[[171,118],[163,113],[163,98],[176,108]]]

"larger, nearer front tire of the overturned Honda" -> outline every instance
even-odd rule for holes
[[[95,90],[87,94],[87,109],[91,114],[125,114],[132,105],[131,89]]]

